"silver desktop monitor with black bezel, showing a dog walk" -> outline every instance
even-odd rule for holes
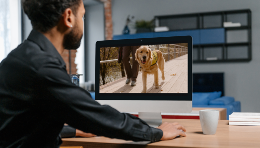
[[[143,119],[191,112],[192,49],[191,36],[96,42],[95,100]]]

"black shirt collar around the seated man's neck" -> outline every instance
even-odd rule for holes
[[[66,65],[62,56],[59,54],[52,42],[39,31],[33,29],[30,35],[28,36],[27,40],[33,41],[34,43],[38,44],[43,51],[46,51],[58,58],[63,66]]]

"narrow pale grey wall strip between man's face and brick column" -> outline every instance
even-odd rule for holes
[[[103,4],[86,6],[86,81],[95,82],[96,42],[105,40]]]

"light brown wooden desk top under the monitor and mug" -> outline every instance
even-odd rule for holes
[[[260,126],[231,126],[219,120],[215,135],[203,135],[199,120],[163,119],[178,122],[187,129],[187,137],[160,141],[148,145],[130,145],[131,141],[105,137],[63,139],[62,146],[83,148],[260,148]]]

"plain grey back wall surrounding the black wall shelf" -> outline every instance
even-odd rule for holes
[[[225,95],[241,101],[242,112],[260,112],[260,0],[112,0],[114,34],[122,33],[128,15],[151,20],[170,15],[250,8],[252,61],[248,63],[194,64],[194,73],[224,72]],[[135,30],[130,28],[130,33]]]

